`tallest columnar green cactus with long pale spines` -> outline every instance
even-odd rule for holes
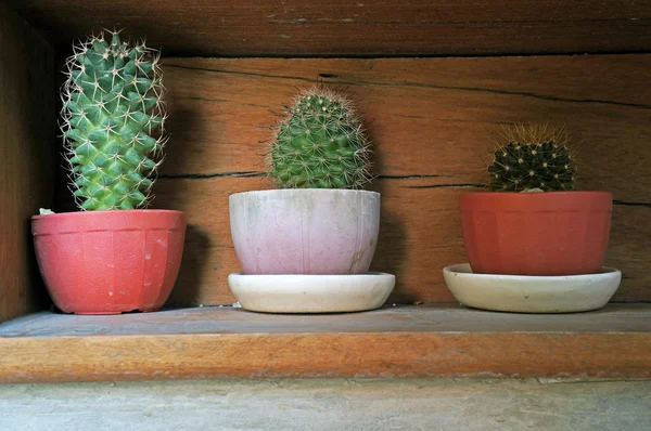
[[[63,86],[62,131],[81,210],[146,207],[163,146],[159,55],[117,32],[74,47]]]

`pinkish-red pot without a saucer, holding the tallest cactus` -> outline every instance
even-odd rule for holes
[[[159,310],[181,264],[186,214],[166,210],[66,212],[31,218],[41,275],[66,313]]]

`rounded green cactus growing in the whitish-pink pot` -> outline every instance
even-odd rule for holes
[[[358,188],[370,180],[362,119],[339,91],[302,91],[276,128],[270,177],[281,188]]]

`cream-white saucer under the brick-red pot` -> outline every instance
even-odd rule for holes
[[[470,264],[443,270],[448,288],[463,305],[518,313],[573,313],[601,309],[620,287],[622,273],[526,276],[473,274]]]

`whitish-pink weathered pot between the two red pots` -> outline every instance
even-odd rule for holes
[[[360,274],[380,230],[380,194],[275,190],[230,196],[233,244],[244,274]]]

